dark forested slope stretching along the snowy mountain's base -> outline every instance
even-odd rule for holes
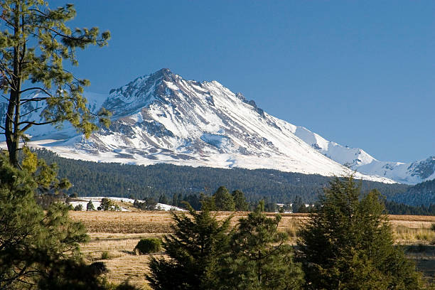
[[[248,201],[266,198],[269,202],[291,203],[300,197],[314,203],[331,178],[320,175],[288,173],[269,169],[193,168],[156,164],[136,166],[119,163],[95,163],[65,159],[47,150],[37,150],[38,156],[59,166],[59,176],[68,178],[73,187],[68,194],[79,196],[119,196],[143,199],[171,198],[182,195],[212,194],[219,186],[242,190]],[[362,181],[363,190],[377,188],[388,199],[407,191],[409,186]]]

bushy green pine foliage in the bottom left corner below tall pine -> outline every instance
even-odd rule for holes
[[[0,289],[101,289],[80,258],[85,227],[69,220],[65,205],[44,212],[36,186],[0,156]]]

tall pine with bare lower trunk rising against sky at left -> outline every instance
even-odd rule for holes
[[[24,134],[32,126],[67,121],[86,136],[97,129],[92,122],[95,115],[82,96],[83,87],[90,82],[65,70],[63,60],[78,65],[75,50],[104,46],[110,33],[100,35],[96,27],[68,28],[65,22],[76,14],[73,4],[49,9],[43,0],[1,0],[0,7],[0,86],[7,100],[0,128],[6,137],[9,161],[18,167],[19,141],[26,140]],[[45,107],[41,113],[44,120],[28,119],[41,105]],[[107,116],[103,109],[97,117],[108,124]]]

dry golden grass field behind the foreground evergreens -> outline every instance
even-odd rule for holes
[[[230,213],[215,213],[219,220]],[[234,213],[232,225],[247,213]],[[270,213],[274,216],[274,213]],[[143,237],[162,237],[171,232],[171,213],[165,211],[142,212],[70,212],[73,220],[80,220],[91,237],[82,245],[82,252],[88,262],[104,261],[109,273],[107,279],[121,283],[129,279],[131,284],[147,289],[144,274],[148,270],[149,255],[133,252]],[[292,242],[296,231],[307,220],[306,214],[281,214],[279,230],[288,232]],[[435,217],[416,215],[390,215],[394,237],[398,245],[407,246],[407,254],[417,261],[417,267],[426,276],[435,274]],[[163,254],[159,253],[158,255]]]

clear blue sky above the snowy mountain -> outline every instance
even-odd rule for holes
[[[112,33],[79,53],[87,90],[170,68],[379,160],[435,155],[435,1],[70,1]]]

